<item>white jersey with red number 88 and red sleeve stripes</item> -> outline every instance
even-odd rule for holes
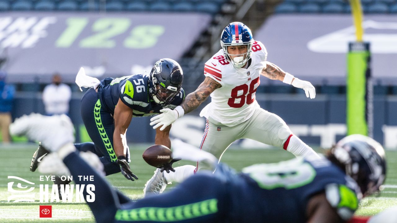
[[[211,103],[200,112],[201,117],[211,117],[226,126],[235,126],[247,121],[259,107],[255,100],[259,77],[266,62],[264,45],[252,44],[251,65],[247,69],[237,68],[219,50],[204,64],[204,75],[220,83],[222,87],[211,93]]]

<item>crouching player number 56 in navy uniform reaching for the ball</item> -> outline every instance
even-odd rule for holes
[[[181,104],[185,93],[182,88],[183,71],[172,59],[157,61],[150,74],[136,74],[102,81],[88,77],[79,71],[76,83],[79,87],[91,87],[81,99],[81,117],[93,142],[75,144],[79,151],[91,151],[100,157],[106,175],[121,173],[134,181],[138,177],[129,167],[129,148],[125,133],[132,117],[160,113],[164,108],[174,109]],[[170,148],[170,127],[156,130],[155,143]],[[47,150],[39,146],[31,162],[35,171]],[[168,170],[168,169],[167,169]],[[55,184],[70,183],[56,177]]]

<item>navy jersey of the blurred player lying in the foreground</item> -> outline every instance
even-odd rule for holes
[[[306,222],[308,200],[322,192],[346,220],[361,198],[357,183],[325,158],[257,164],[243,172],[238,175],[243,181],[232,180],[231,219],[226,222]]]

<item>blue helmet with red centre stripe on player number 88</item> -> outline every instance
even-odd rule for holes
[[[221,46],[224,50],[225,58],[235,67],[243,67],[243,65],[251,58],[252,53],[252,38],[251,30],[240,22],[233,22],[227,25],[221,35]],[[231,60],[231,54],[227,52],[227,46],[241,46],[247,45],[247,53],[235,57]]]

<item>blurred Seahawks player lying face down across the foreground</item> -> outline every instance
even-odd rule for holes
[[[360,199],[377,192],[385,180],[384,149],[362,135],[343,138],[326,157],[256,164],[245,167],[243,173],[218,164],[208,152],[187,146],[175,147],[173,155],[198,159],[216,168],[215,173],[200,171],[170,192],[133,201],[86,163],[100,165],[95,155],[85,160],[79,156],[66,115],[25,115],[15,120],[10,132],[40,140],[50,148],[53,156],[44,157],[40,172],[69,169],[76,184],[84,184],[78,175],[94,176],[91,183],[97,196],[87,204],[97,222],[346,222]]]

